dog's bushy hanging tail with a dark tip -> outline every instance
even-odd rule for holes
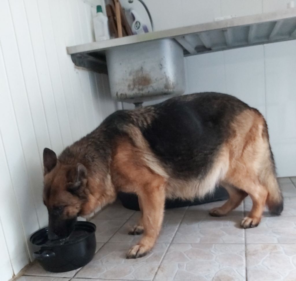
[[[265,120],[264,120],[265,121]],[[268,196],[266,204],[271,214],[279,216],[284,208],[284,200],[281,190],[279,188],[279,183],[276,178],[276,168],[274,163],[274,156],[271,151],[269,136],[267,130],[267,124],[264,124],[265,128],[263,130],[263,138],[268,143],[268,149],[265,154],[264,163],[261,170],[261,181],[263,185],[267,188]]]

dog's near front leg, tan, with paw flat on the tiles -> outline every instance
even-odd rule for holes
[[[139,243],[128,251],[128,259],[145,256],[154,246],[163,222],[165,205],[164,185],[150,185],[138,194],[143,208],[144,236]]]

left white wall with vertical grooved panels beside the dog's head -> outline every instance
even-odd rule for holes
[[[93,41],[82,0],[0,2],[0,280],[30,261],[47,224],[42,152],[60,153],[117,109],[107,75],[74,67],[66,46]]]

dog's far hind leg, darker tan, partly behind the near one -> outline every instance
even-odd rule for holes
[[[221,207],[210,210],[210,215],[213,217],[226,216],[230,211],[239,206],[239,204],[241,204],[244,198],[248,195],[243,190],[239,190],[232,185],[223,183],[222,186],[227,190],[229,199]]]

